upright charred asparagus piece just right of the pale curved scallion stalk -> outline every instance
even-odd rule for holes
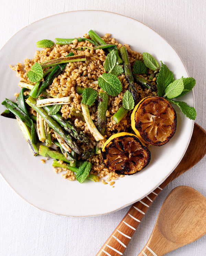
[[[106,130],[106,111],[108,106],[108,94],[99,92],[98,108],[97,108],[97,129],[104,135]]]

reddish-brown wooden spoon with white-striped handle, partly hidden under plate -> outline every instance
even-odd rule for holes
[[[123,255],[131,237],[139,226],[140,221],[160,191],[162,191],[162,189],[176,177],[180,176],[199,162],[205,154],[206,132],[201,126],[195,123],[190,144],[179,165],[159,187],[130,207],[127,214],[106,240],[96,256]]]

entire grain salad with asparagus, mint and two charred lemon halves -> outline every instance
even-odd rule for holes
[[[36,45],[43,49],[24,60],[24,70],[20,63],[10,66],[22,89],[16,102],[2,102],[1,115],[16,118],[33,155],[53,158],[55,172],[64,170],[68,180],[107,176],[113,185],[141,171],[150,162],[149,145],[164,145],[175,133],[171,103],[195,119],[193,107],[174,100],[195,80],[174,80],[164,63],[159,68],[151,54],[110,34],[100,38],[90,30],[83,38]]]

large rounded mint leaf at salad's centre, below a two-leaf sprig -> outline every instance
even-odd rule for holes
[[[119,79],[110,73],[103,73],[98,77],[98,85],[107,94],[117,96],[122,91],[122,84]]]

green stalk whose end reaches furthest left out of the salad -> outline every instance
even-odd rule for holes
[[[18,116],[22,122],[28,125],[28,127],[32,127],[32,120],[18,107],[16,103],[6,98],[1,104],[7,107],[7,109],[15,116]]]

